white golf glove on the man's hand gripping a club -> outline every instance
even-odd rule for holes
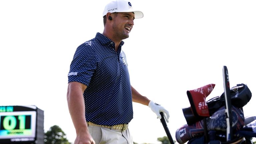
[[[169,122],[169,120],[168,120],[169,117],[170,117],[169,112],[164,107],[162,107],[160,104],[157,104],[153,101],[150,101],[149,104],[148,104],[148,107],[150,107],[151,110],[154,113],[156,113],[157,118],[159,118],[159,119],[162,118],[161,115],[160,115],[160,112],[163,112],[163,115],[165,117],[166,122]]]

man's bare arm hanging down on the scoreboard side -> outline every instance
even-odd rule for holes
[[[68,83],[68,109],[76,129],[76,139],[74,144],[95,144],[89,133],[85,119],[85,104],[83,93],[86,88],[86,85],[79,82]]]

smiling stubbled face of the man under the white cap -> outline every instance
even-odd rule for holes
[[[116,39],[126,39],[129,37],[129,33],[134,25],[134,13],[133,12],[118,12],[115,13],[113,18],[112,29],[114,31],[114,37]]]

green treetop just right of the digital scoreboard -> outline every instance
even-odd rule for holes
[[[45,144],[71,144],[62,129],[54,125],[44,134]]]

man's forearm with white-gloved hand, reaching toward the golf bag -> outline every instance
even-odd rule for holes
[[[164,117],[166,119],[167,122],[170,115],[169,115],[169,112],[161,105],[149,100],[147,97],[145,96],[142,96],[138,91],[136,91],[132,86],[131,86],[131,89],[132,89],[132,101],[133,102],[136,102],[136,103],[140,103],[140,104],[143,104],[143,105],[147,105],[148,107],[151,108],[151,110],[156,113],[157,117],[159,119],[161,119],[161,115],[160,115],[160,112],[163,112],[164,113]]]

